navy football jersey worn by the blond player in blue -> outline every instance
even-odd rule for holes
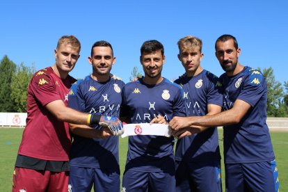
[[[203,70],[194,77],[186,74],[175,80],[184,89],[187,116],[204,116],[208,113],[207,105],[222,106],[221,83],[214,74]],[[177,161],[217,161],[221,159],[218,146],[217,127],[192,136],[185,136],[177,141],[175,160]]]

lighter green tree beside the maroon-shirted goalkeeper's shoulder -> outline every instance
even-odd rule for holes
[[[32,67],[26,67],[24,63],[17,65],[10,85],[10,97],[15,101],[14,111],[26,112],[27,88],[34,73],[34,65]]]

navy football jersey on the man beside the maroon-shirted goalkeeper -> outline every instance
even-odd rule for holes
[[[87,76],[72,85],[68,106],[85,113],[119,117],[124,84],[114,78],[100,83]],[[93,128],[102,129],[101,126]],[[118,136],[102,139],[73,135],[70,166],[115,168],[118,159]]]

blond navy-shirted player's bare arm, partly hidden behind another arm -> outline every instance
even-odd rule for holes
[[[215,115],[221,112],[222,107],[218,106],[216,104],[208,104],[207,105],[207,111],[208,113],[206,115]],[[214,126],[213,126],[214,127]],[[192,129],[191,129],[192,128]],[[209,126],[196,126],[191,125],[190,127],[186,127],[184,129],[180,129],[177,131],[178,138],[182,138],[184,136],[191,136],[192,134],[200,133],[202,131],[205,131],[208,129]]]

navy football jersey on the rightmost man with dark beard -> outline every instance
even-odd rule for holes
[[[236,125],[224,128],[225,163],[253,163],[275,159],[266,125],[267,85],[264,76],[251,67],[233,77],[222,74],[223,109],[232,109],[236,99],[250,104],[250,110]]]

